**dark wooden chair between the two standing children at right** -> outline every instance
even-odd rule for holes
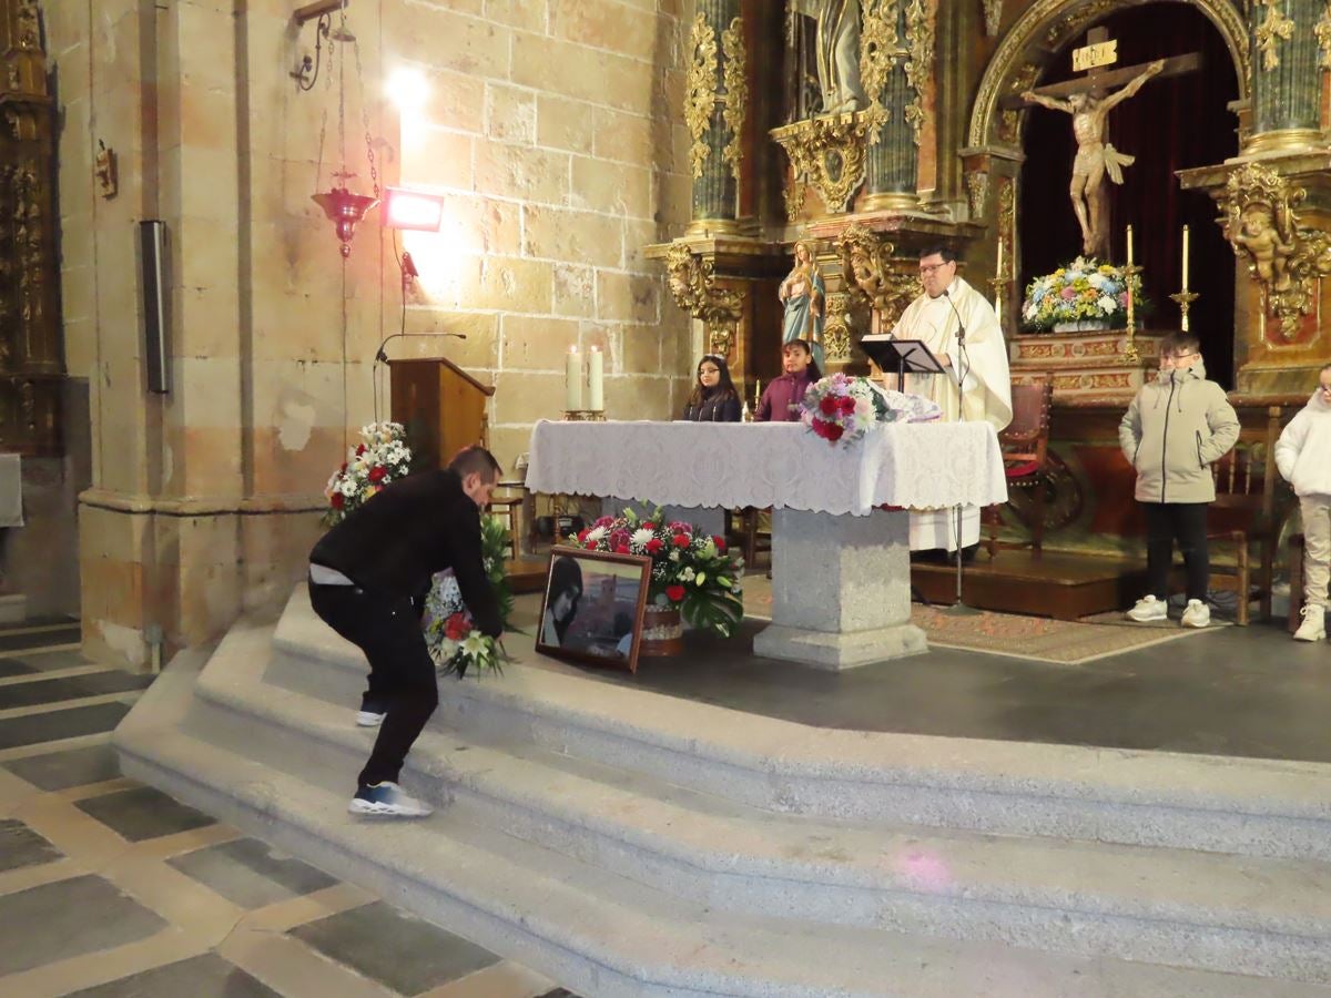
[[[1276,508],[1279,474],[1275,470],[1275,442],[1280,436],[1280,407],[1270,406],[1259,427],[1239,431],[1234,448],[1211,466],[1215,502],[1207,516],[1215,523],[1235,524],[1207,534],[1211,554],[1211,588],[1238,596],[1236,623],[1248,623],[1248,603],[1259,600],[1260,620],[1271,617],[1271,582],[1275,574],[1275,546],[1283,516]],[[1258,544],[1252,564],[1251,544]],[[1215,555],[1231,551],[1217,563]]]

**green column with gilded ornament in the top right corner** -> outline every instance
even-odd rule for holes
[[[1331,53],[1331,17],[1326,12],[1324,0],[1251,4],[1252,134],[1246,152],[1322,144],[1319,44]]]

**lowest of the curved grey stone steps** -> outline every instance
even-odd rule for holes
[[[423,821],[358,821],[345,792],[241,754],[248,739],[222,748],[194,737],[198,668],[177,659],[117,729],[126,776],[583,994],[1331,995],[1288,981],[716,912],[504,834],[465,800]],[[242,735],[268,727],[233,721]]]

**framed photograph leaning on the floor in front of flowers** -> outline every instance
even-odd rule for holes
[[[647,555],[552,547],[536,651],[636,672],[651,579]]]

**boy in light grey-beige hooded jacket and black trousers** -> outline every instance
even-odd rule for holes
[[[1161,342],[1161,370],[1142,386],[1118,426],[1123,456],[1137,468],[1137,502],[1146,514],[1149,592],[1127,611],[1129,620],[1165,620],[1174,542],[1187,571],[1183,627],[1206,627],[1210,562],[1206,507],[1215,502],[1211,464],[1239,438],[1239,419],[1225,389],[1206,379],[1201,341],[1170,333]],[[1240,595],[1239,599],[1243,599]]]

